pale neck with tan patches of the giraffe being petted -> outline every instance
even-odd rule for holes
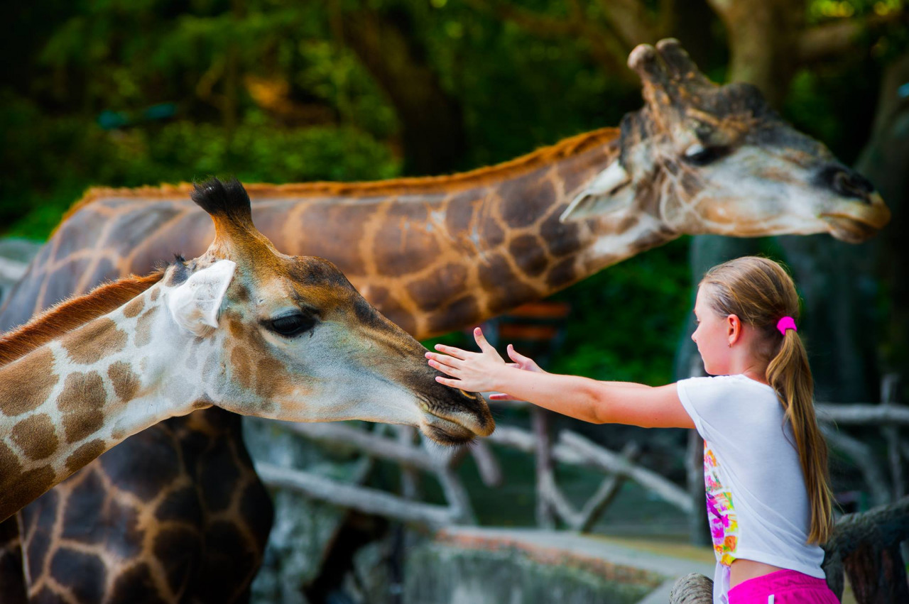
[[[161,289],[0,367],[0,520],[135,432],[210,404],[169,371],[190,347]]]

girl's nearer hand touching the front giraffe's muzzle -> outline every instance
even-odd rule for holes
[[[435,381],[445,384],[445,386],[471,392],[494,390],[495,377],[507,365],[499,353],[495,352],[492,344],[486,342],[483,331],[479,327],[474,328],[474,340],[480,347],[480,352],[463,351],[460,348],[444,344],[436,344],[435,350],[445,352],[445,354],[426,352],[425,356],[429,359],[430,367],[450,375],[451,378],[456,378],[453,380],[436,376]]]

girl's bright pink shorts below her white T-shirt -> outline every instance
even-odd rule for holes
[[[729,604],[839,604],[824,579],[777,570],[729,590]]]

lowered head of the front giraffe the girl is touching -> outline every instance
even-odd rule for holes
[[[193,200],[212,216],[215,242],[165,274],[179,284],[165,302],[186,331],[214,342],[199,361],[213,385],[225,378],[213,403],[288,421],[405,423],[444,443],[493,431],[483,398],[437,383],[425,348],[334,264],[277,252],[255,229],[243,185],[214,179]]]

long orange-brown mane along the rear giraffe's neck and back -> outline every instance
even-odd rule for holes
[[[565,138],[556,144],[541,147],[531,153],[526,153],[520,157],[508,160],[503,163],[497,163],[491,166],[477,168],[469,172],[446,174],[444,176],[410,176],[403,178],[393,178],[384,181],[366,181],[360,183],[337,183],[320,181],[315,183],[288,183],[288,184],[270,184],[270,183],[249,183],[245,184],[245,189],[251,196],[269,196],[269,195],[325,195],[325,196],[365,196],[372,194],[381,194],[394,189],[413,188],[420,191],[451,191],[458,185],[474,186],[482,183],[484,180],[496,180],[502,176],[508,176],[510,173],[524,173],[534,167],[553,163],[574,155],[583,153],[596,145],[609,142],[618,136],[617,128],[600,128],[583,134],[576,134]],[[155,198],[155,199],[179,199],[189,198],[193,192],[192,183],[161,184],[157,186],[141,187],[92,187],[75,202],[63,216],[63,219],[57,225],[66,222],[74,213],[81,210],[85,205],[109,197],[127,197],[127,198]],[[53,236],[53,235],[52,235]]]

